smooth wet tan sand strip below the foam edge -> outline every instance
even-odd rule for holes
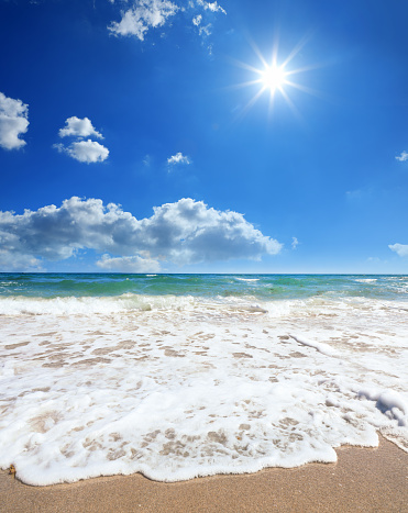
[[[36,488],[1,471],[0,511],[408,512],[407,453],[382,438],[378,448],[341,447],[338,455],[337,464],[177,483],[134,475]]]

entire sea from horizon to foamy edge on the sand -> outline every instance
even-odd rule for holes
[[[0,466],[159,481],[408,450],[408,277],[0,275]]]

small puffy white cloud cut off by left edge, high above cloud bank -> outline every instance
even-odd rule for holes
[[[26,143],[19,138],[29,127],[29,105],[0,92],[0,146],[19,149]]]

